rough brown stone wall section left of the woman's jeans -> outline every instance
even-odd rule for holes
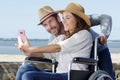
[[[15,80],[15,75],[21,63],[0,63],[0,80]]]

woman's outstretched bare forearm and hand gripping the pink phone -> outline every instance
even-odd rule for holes
[[[55,53],[60,51],[59,44],[52,44],[43,47],[32,47],[29,43],[27,37],[25,38],[25,43],[20,43],[21,39],[18,37],[18,49],[23,51],[26,56],[33,56],[33,57],[43,57],[43,53]]]

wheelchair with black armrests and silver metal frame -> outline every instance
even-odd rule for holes
[[[97,66],[98,56],[97,56],[97,43],[99,37],[96,37],[93,47],[91,50],[90,58],[83,57],[74,57],[68,66],[68,80],[113,80],[110,75],[103,71],[99,70]],[[52,73],[56,72],[56,67],[58,62],[54,59],[46,59],[46,58],[36,58],[36,57],[26,57],[24,64],[31,62],[39,62],[39,63],[51,63],[52,64]],[[73,70],[72,64],[86,64],[88,65],[88,70]],[[48,70],[49,71],[49,70]]]

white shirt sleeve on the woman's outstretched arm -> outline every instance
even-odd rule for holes
[[[61,46],[62,53],[78,51],[92,44],[92,36],[87,30],[79,31],[70,38],[58,43]]]

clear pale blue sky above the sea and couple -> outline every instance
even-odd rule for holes
[[[18,30],[25,29],[28,38],[48,39],[50,34],[37,25],[39,8],[49,5],[54,10],[61,10],[70,2],[81,4],[87,15],[110,15],[113,24],[108,40],[120,40],[120,0],[1,0],[0,38],[17,38]],[[99,33],[100,27],[93,30]]]

